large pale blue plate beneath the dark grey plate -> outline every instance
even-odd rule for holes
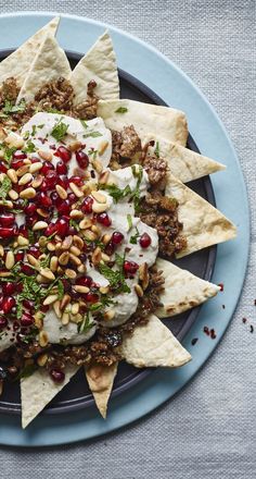
[[[1,15],[0,49],[20,46],[53,15],[35,12]],[[105,28],[106,25],[89,19],[63,15],[59,40],[66,50],[87,51]],[[212,182],[217,207],[238,225],[238,238],[218,247],[213,281],[223,283],[225,288],[217,298],[203,306],[183,342],[193,355],[190,364],[177,370],[157,369],[126,394],[114,397],[106,421],[99,417],[95,407],[91,407],[71,415],[39,417],[23,431],[20,418],[1,415],[1,444],[41,446],[71,443],[113,431],[152,412],[172,397],[216,348],[232,318],[243,286],[249,247],[248,205],[239,161],[223,125],[202,93],[174,63],[141,40],[111,26],[107,28],[114,41],[118,66],[146,84],[168,105],[183,110],[189,119],[190,133],[202,153],[228,167],[228,172],[214,175]],[[215,341],[203,334],[205,322],[215,329]],[[191,346],[193,337],[200,337],[195,346]]]

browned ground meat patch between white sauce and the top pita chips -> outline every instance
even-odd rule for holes
[[[57,111],[69,116],[91,120],[97,116],[99,98],[94,94],[97,83],[92,79],[87,85],[87,99],[77,106],[74,105],[74,89],[71,83],[60,77],[43,85],[28,105],[15,105],[20,88],[13,77],[3,82],[0,89],[0,126],[12,131],[18,130],[38,111]]]

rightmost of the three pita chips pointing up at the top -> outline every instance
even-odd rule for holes
[[[87,85],[94,79],[94,93],[102,100],[119,98],[119,79],[116,66],[116,57],[111,37],[105,32],[91,47],[87,54],[77,63],[71,74],[74,88],[74,105],[87,99]]]

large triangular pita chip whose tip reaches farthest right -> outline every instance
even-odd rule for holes
[[[165,194],[178,200],[179,221],[183,223],[187,248],[178,258],[235,237],[234,224],[172,174],[168,174]]]

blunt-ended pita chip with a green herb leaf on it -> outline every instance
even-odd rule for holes
[[[168,142],[183,146],[187,144],[185,114],[174,108],[133,100],[101,100],[98,103],[98,115],[103,118],[108,128],[117,132],[124,126],[133,125],[142,142],[152,132]]]

